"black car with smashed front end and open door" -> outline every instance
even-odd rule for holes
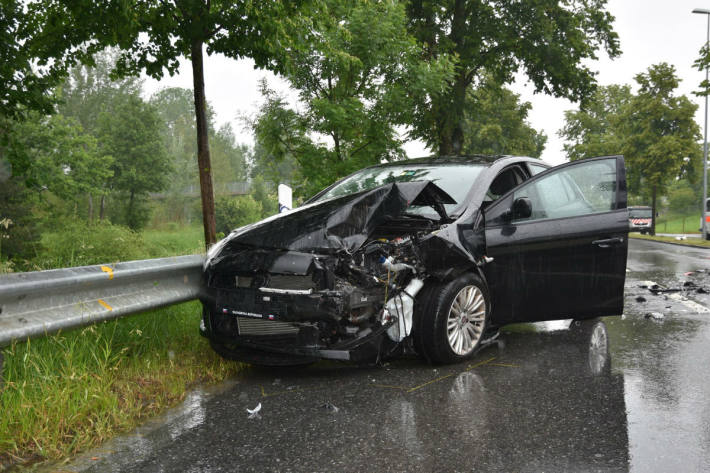
[[[457,362],[505,324],[621,314],[628,231],[621,156],[373,166],[217,243],[201,332],[264,365]]]

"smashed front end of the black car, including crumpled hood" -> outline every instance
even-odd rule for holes
[[[425,280],[474,264],[446,228],[451,203],[430,181],[398,182],[233,232],[205,263],[206,335],[264,364],[386,357],[411,333]]]

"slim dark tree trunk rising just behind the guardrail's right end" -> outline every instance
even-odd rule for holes
[[[202,41],[194,40],[191,49],[192,83],[195,93],[195,120],[197,124],[197,166],[200,173],[202,197],[202,222],[205,228],[205,247],[217,242],[217,224],[214,217],[214,188],[212,187],[212,164],[207,139],[207,113],[205,79],[202,68]]]

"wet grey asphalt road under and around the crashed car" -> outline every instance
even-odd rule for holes
[[[710,295],[640,287],[710,291],[684,274],[710,250],[632,241],[628,269],[623,318],[509,327],[455,366],[250,369],[52,471],[710,471]]]

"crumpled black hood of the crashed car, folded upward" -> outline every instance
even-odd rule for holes
[[[242,245],[350,253],[360,248],[375,228],[400,217],[411,205],[443,208],[443,204],[455,203],[431,181],[385,184],[366,192],[314,202],[242,227],[227,237],[220,253],[226,256],[230,249]],[[216,256],[219,260],[219,255]]]

